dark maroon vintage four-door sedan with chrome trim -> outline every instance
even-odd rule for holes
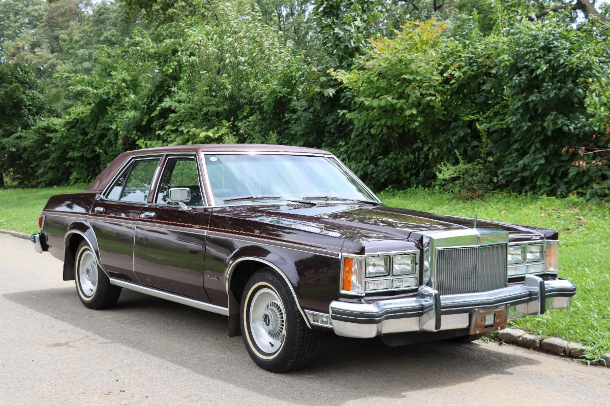
[[[389,208],[329,152],[186,145],[126,152],[51,197],[31,239],[82,303],[131,289],[228,316],[261,368],[296,368],[319,331],[388,345],[475,340],[570,305],[558,233]]]

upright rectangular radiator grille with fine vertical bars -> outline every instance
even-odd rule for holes
[[[434,287],[441,295],[506,287],[506,244],[436,251]]]

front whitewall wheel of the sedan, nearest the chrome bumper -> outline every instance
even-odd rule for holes
[[[285,372],[312,357],[317,332],[307,327],[292,292],[271,268],[248,280],[239,313],[243,343],[260,368]]]

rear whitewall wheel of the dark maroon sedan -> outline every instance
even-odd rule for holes
[[[121,295],[121,288],[110,284],[106,273],[99,268],[95,253],[85,241],[76,250],[74,282],[82,304],[89,309],[112,307]]]

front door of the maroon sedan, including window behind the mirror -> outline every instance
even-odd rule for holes
[[[195,155],[168,155],[156,193],[135,226],[134,272],[142,284],[209,301],[204,257],[209,210],[204,208]],[[169,201],[173,187],[187,187],[187,210]]]

